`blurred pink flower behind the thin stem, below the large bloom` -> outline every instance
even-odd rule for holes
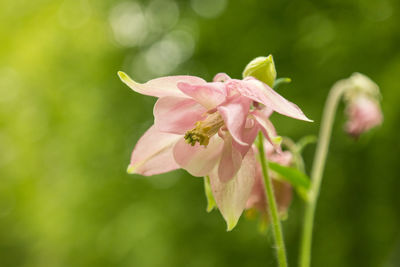
[[[255,147],[253,147],[253,149],[258,153]],[[293,163],[293,155],[289,151],[277,152],[272,145],[267,142],[264,142],[264,149],[268,161],[276,162],[283,166],[290,166]],[[292,201],[292,187],[289,183],[279,180],[279,177],[272,171],[269,172],[269,176],[272,179],[278,211],[280,215],[283,216],[286,214],[290,202]],[[246,209],[253,208],[258,210],[261,214],[267,215],[268,202],[265,195],[264,178],[259,163],[257,163],[256,167],[255,182],[246,203]],[[263,217],[268,220],[268,216]]]

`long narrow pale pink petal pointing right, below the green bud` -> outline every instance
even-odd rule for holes
[[[262,103],[282,115],[299,120],[312,121],[304,115],[297,105],[286,100],[268,85],[255,79],[242,81],[240,85],[238,87],[239,92],[254,101]]]

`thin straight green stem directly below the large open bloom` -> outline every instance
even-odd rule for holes
[[[287,267],[285,241],[283,240],[282,226],[281,226],[281,221],[279,219],[278,208],[275,201],[274,189],[272,187],[272,181],[268,175],[268,162],[267,159],[265,158],[262,132],[259,133],[258,138],[259,138],[258,151],[260,153],[261,168],[265,182],[265,194],[267,196],[268,207],[269,207],[268,213],[271,220],[271,225],[273,230],[272,232],[275,239],[278,263],[280,267]]]

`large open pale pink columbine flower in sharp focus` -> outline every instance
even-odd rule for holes
[[[171,76],[139,84],[118,74],[134,91],[159,98],[154,125],[136,144],[128,172],[153,175],[181,167],[194,176],[209,176],[228,229],[236,225],[254,183],[251,146],[258,131],[276,141],[270,113],[309,121],[295,104],[251,77],[236,80],[221,73],[207,83]]]

